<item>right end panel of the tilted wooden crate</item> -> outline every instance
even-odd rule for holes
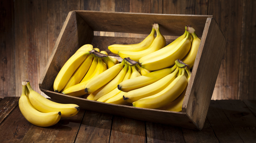
[[[215,19],[207,19],[182,108],[200,128],[203,128],[211,101],[225,42]]]

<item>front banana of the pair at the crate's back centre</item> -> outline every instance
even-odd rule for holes
[[[165,46],[165,44],[166,44],[166,40],[162,36],[162,34],[160,33],[159,25],[158,24],[153,24],[153,27],[157,31],[157,36],[154,39],[154,41],[152,42],[152,44],[147,49],[145,49],[143,51],[138,51],[138,52],[119,51],[118,55],[121,58],[130,57],[132,60],[138,62],[141,57],[146,56],[146,55],[148,55],[150,53],[153,53],[153,52],[158,51],[159,49],[163,48]]]

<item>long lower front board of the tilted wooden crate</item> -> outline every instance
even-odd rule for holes
[[[85,110],[198,130],[197,125],[193,123],[193,121],[189,118],[189,116],[187,116],[186,113],[102,103],[79,97],[72,97],[45,89],[40,90],[57,103],[73,103],[77,104],[81,109]]]

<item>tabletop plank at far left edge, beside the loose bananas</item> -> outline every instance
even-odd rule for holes
[[[0,100],[0,124],[18,106],[19,97],[5,97]]]

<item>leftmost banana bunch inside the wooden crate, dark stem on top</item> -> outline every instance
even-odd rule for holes
[[[63,65],[53,83],[55,92],[80,97],[85,95],[84,86],[94,76],[119,63],[106,51],[91,44],[80,47]]]

